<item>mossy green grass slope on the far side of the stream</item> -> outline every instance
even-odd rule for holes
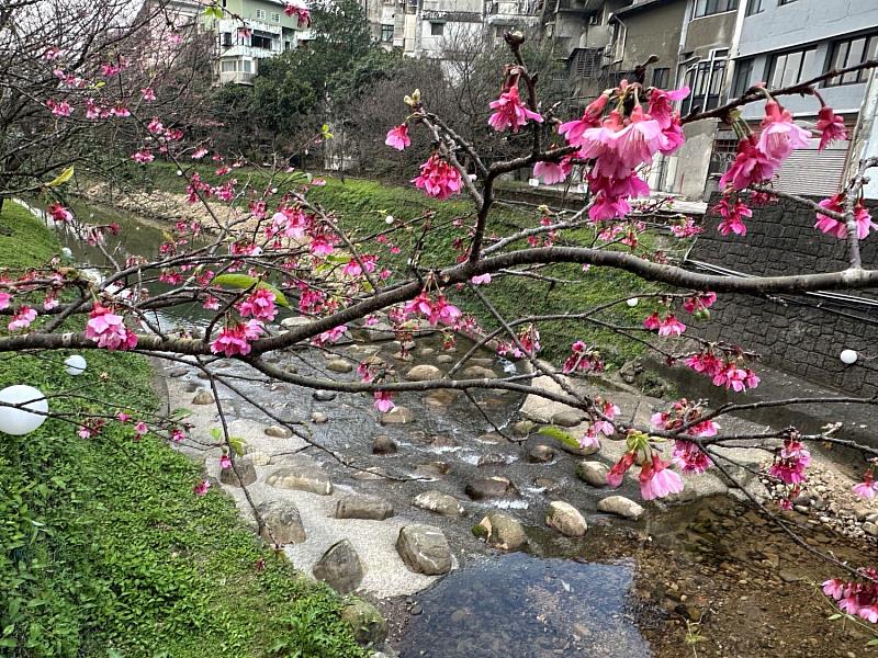
[[[177,177],[176,169],[167,164],[150,166],[149,180],[145,183],[156,189],[166,191],[182,191],[181,179]],[[201,168],[203,178],[215,180],[207,168]],[[248,175],[240,172],[239,179]],[[259,182],[256,182],[258,185]],[[426,266],[447,265],[454,262],[457,252],[453,241],[464,235],[465,229],[454,227],[457,218],[470,218],[472,205],[461,195],[454,200],[438,202],[427,197],[420,190],[413,185],[401,186],[384,184],[375,181],[346,178],[327,178],[326,185],[314,188],[309,198],[318,202],[326,209],[335,212],[348,229],[359,231],[360,235],[370,235],[387,229],[384,219],[392,215],[397,222],[408,222],[423,217],[425,213],[431,214],[432,229],[423,234],[424,220],[413,224],[410,230],[404,236],[395,234],[392,239],[402,248],[397,256],[387,256],[394,269],[404,271],[405,261],[413,248],[423,240],[420,263]],[[510,209],[495,206],[489,218],[489,229],[498,235],[505,235],[522,227],[537,226],[539,215],[533,212]],[[581,243],[592,243],[594,240],[592,229],[569,231],[561,242],[576,239]],[[646,248],[655,246],[655,236],[646,234],[641,237]],[[515,245],[515,248],[525,247],[525,242]],[[627,247],[620,247],[627,249]],[[386,256],[386,249],[376,251]],[[632,274],[607,268],[592,268],[583,272],[575,264],[559,264],[541,270],[543,275],[552,276],[565,283],[551,283],[534,279],[497,277],[491,285],[483,287],[484,294],[496,308],[507,318],[522,315],[550,315],[559,313],[579,313],[590,307],[605,304],[612,299],[624,298],[640,291],[651,290]],[[570,282],[570,283],[567,283]],[[486,328],[495,328],[493,318],[466,291],[452,293],[452,297],[466,310],[475,313]],[[648,315],[650,307],[641,304],[637,308],[629,308],[624,304],[616,305],[596,318],[617,326],[639,326]],[[552,360],[562,360],[569,353],[570,345],[575,340],[584,340],[589,344],[597,344],[605,358],[615,365],[640,355],[643,347],[609,329],[585,321],[561,322],[544,321],[539,325],[542,336],[542,355]]]

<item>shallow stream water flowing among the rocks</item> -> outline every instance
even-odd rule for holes
[[[117,253],[149,257],[155,254],[162,240],[161,227],[156,224],[122,216],[105,208],[76,209],[80,213],[94,213],[95,223],[113,220],[121,225],[120,236],[108,237],[106,246]],[[106,264],[104,256],[98,249],[83,245],[70,235],[63,234],[63,240],[77,262],[99,268]],[[159,290],[157,286],[154,292]],[[198,326],[204,322],[205,317],[199,306],[192,306],[164,313],[157,319],[165,326]],[[469,344],[461,341],[454,355],[466,349]],[[357,350],[360,350],[360,355],[376,353],[393,363],[398,344],[389,341],[367,347],[347,345],[339,350],[339,354],[356,358]],[[441,350],[438,339],[424,337],[413,351],[414,361],[406,363],[405,367],[436,363],[439,353]],[[302,374],[325,372],[326,360],[319,353],[284,352],[270,359],[282,366],[293,366]],[[493,353],[479,354],[477,359],[481,364],[497,372],[511,366]],[[333,460],[315,455],[330,472],[333,481],[338,486],[379,495],[393,501],[397,510],[405,510],[407,515],[419,522],[441,526],[455,552],[461,567],[418,594],[415,598],[420,609],[418,613],[414,616],[404,615],[407,619],[397,623],[397,634],[393,639],[404,658],[639,658],[653,655],[690,655],[689,648],[684,644],[685,626],[678,619],[679,614],[693,617],[691,606],[687,608],[686,597],[680,602],[680,595],[673,593],[677,590],[668,581],[673,580],[674,587],[678,582],[680,587],[691,587],[693,592],[697,590],[698,595],[693,593],[690,601],[698,601],[698,605],[705,611],[710,605],[722,605],[717,603],[719,600],[728,599],[740,603],[741,597],[746,600],[746,595],[738,592],[751,590],[753,577],[750,577],[750,581],[744,578],[744,585],[741,585],[742,578],[734,571],[731,571],[733,575],[727,583],[725,571],[720,567],[721,560],[727,558],[724,555],[719,557],[717,544],[706,543],[701,535],[693,538],[693,533],[687,529],[694,523],[693,515],[697,511],[695,508],[691,514],[679,512],[674,517],[673,523],[664,524],[661,514],[652,515],[653,512],[650,512],[649,532],[664,537],[662,551],[655,554],[655,546],[650,544],[652,540],[648,537],[643,525],[619,526],[614,522],[614,527],[610,527],[609,520],[596,512],[596,501],[601,495],[598,490],[583,486],[575,478],[574,458],[559,453],[548,464],[530,464],[526,456],[533,445],[542,443],[539,438],[525,438],[518,442],[492,435],[486,417],[494,424],[505,426],[515,417],[521,404],[519,396],[486,390],[474,393],[473,400],[462,395],[449,395],[442,399],[442,404],[437,405],[427,404],[420,395],[404,394],[396,401],[413,411],[414,421],[405,426],[382,427],[371,398],[365,396],[313,395],[311,390],[300,387],[264,382],[241,364],[226,365],[224,372],[233,376],[240,393],[258,399],[278,417],[305,420],[315,411],[329,416],[331,422],[313,426],[314,440],[327,449],[356,457],[361,467],[376,466],[392,474],[424,476],[425,465],[430,466],[434,475],[428,480],[358,479],[349,469]],[[338,376],[345,378],[353,375]],[[221,400],[232,418],[271,422],[261,411],[254,409],[228,388],[221,389]],[[399,452],[390,456],[373,455],[371,446],[375,434],[392,436],[398,443]],[[486,455],[494,457],[493,465],[480,466]],[[499,458],[496,458],[497,455]],[[441,468],[437,470],[437,463],[447,465],[448,472],[441,473]],[[466,500],[463,492],[466,483],[475,477],[500,474],[516,483],[519,497],[511,501]],[[556,488],[547,490],[547,483],[553,483]],[[410,508],[414,496],[432,488],[440,488],[465,501],[469,515],[463,519],[448,519]],[[548,500],[559,498],[567,500],[586,514],[592,526],[586,537],[571,540],[544,529],[543,515]],[[748,533],[752,522],[746,521],[743,512],[725,511],[729,506],[731,503],[727,501],[722,504],[723,511],[705,512],[716,519],[716,529],[710,531],[710,541],[734,536],[736,540],[731,543],[730,548],[734,553],[730,553],[729,560],[762,559],[751,557],[754,553],[762,555],[759,551],[764,551],[761,540]],[[472,535],[472,524],[477,523],[485,512],[497,507],[513,508],[510,513],[528,526],[527,552],[492,552]],[[699,521],[699,529],[706,523],[703,519]],[[783,546],[773,548],[773,552],[783,551]],[[644,572],[660,574],[660,577],[653,579],[652,576],[644,576]],[[820,568],[813,565],[807,574],[813,578],[823,576]],[[698,578],[691,580],[695,576]],[[770,572],[759,578],[773,588],[780,589],[791,582],[781,578],[778,585]],[[668,591],[672,593],[668,594]],[[412,600],[408,601],[410,602]],[[404,604],[399,603],[401,606]],[[679,612],[680,605],[683,613]],[[673,612],[675,610],[677,613]],[[769,626],[772,622],[784,623],[787,615],[779,604],[772,603],[761,610],[763,612],[759,614],[763,616],[757,623]],[[797,614],[804,621],[804,633],[813,633],[813,627],[825,617],[820,608],[800,608]],[[725,635],[734,632],[735,620],[731,621],[731,626],[721,628],[718,617],[716,632]],[[665,628],[672,628],[676,633],[675,644],[671,648],[663,639]],[[750,639],[753,638],[756,638],[754,642],[762,642],[758,634]],[[851,646],[857,649],[862,647],[858,639],[852,640],[847,636],[833,642],[834,647],[842,642],[854,643]],[[705,655],[781,655],[776,653],[774,645],[764,651],[761,646],[757,643],[753,645],[755,648],[741,649],[742,653],[732,648]],[[835,656],[834,647],[832,651],[828,649],[823,653],[822,649],[814,650],[811,646],[806,653],[793,650],[788,655]]]

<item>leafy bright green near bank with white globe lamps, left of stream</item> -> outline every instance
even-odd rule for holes
[[[20,206],[0,217],[0,263],[46,262],[54,236]],[[157,407],[148,363],[91,351],[0,355],[0,388],[30,384],[54,411]],[[244,529],[230,499],[192,486],[200,468],[157,439],[109,423],[91,440],[48,420],[0,434],[0,655],[187,658],[360,656],[341,600]]]

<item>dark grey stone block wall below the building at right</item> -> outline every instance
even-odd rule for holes
[[[718,201],[714,195],[709,207]],[[869,202],[878,218],[878,203]],[[747,235],[722,237],[720,218],[708,214],[689,258],[747,274],[779,275],[846,266],[844,240],[813,228],[815,215],[791,201],[754,208]],[[878,235],[860,243],[866,268],[878,266]],[[878,290],[840,293],[878,300]],[[693,329],[761,353],[765,363],[817,384],[856,395],[878,394],[878,306],[810,295],[720,295],[711,321]],[[857,351],[856,364],[838,359]],[[873,356],[868,360],[867,356]]]

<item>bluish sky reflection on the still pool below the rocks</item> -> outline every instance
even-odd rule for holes
[[[419,597],[402,658],[650,656],[627,613],[633,561],[513,553],[455,571]]]

